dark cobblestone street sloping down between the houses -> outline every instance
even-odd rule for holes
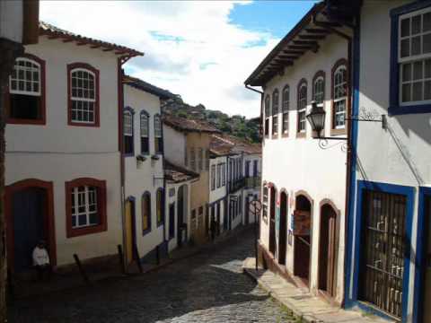
[[[157,272],[16,301],[10,322],[284,322],[288,317],[242,274],[252,231],[210,254]]]

